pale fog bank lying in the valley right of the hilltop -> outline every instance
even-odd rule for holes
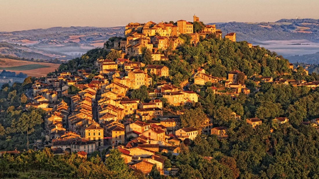
[[[311,42],[304,39],[268,40],[268,41],[257,42],[256,45],[265,47],[266,49],[269,49],[271,52],[274,51],[278,55],[282,55],[283,57],[319,52],[319,43]]]

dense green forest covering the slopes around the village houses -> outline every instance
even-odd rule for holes
[[[167,157],[166,166],[179,168],[177,176],[159,176],[152,170],[151,178],[319,178],[319,133],[311,125],[300,124],[319,117],[319,90],[306,86],[271,84],[261,81],[258,76],[281,77],[296,80],[319,80],[316,73],[306,75],[300,66],[296,72],[288,68],[288,60],[264,48],[249,48],[247,42],[231,42],[227,39],[201,39],[197,46],[186,44],[178,50],[168,49],[169,60],[152,61],[147,49],[132,61],[145,64],[166,65],[170,76],[153,76],[154,84],[168,81],[176,86],[192,81],[192,75],[199,67],[216,77],[226,77],[232,70],[247,75],[244,83],[251,90],[249,95],[240,94],[236,99],[230,95],[216,95],[211,86],[222,84],[207,83],[204,86],[191,85],[190,90],[199,95],[199,102],[192,106],[172,107],[185,109],[181,116],[182,127],[201,128],[206,116],[213,118],[214,127],[227,127],[228,138],[216,135],[197,136],[194,141],[185,140],[180,145],[180,154],[161,153]],[[116,51],[93,49],[80,58],[63,63],[59,71],[93,67],[96,59],[118,57]],[[254,79],[254,80],[252,80]],[[26,133],[29,141],[41,136],[43,112],[24,110],[27,102],[23,89],[34,79],[27,78],[23,84],[4,85],[0,90],[0,148],[26,149]],[[200,90],[198,90],[200,89]],[[258,90],[257,90],[258,89]],[[147,88],[133,91],[134,97],[145,100]],[[147,94],[147,93],[146,93]],[[167,105],[164,105],[167,108]],[[232,112],[241,115],[235,120]],[[245,119],[258,117],[262,124],[255,129]],[[275,117],[287,117],[289,124],[278,125]],[[25,123],[30,121],[31,124]],[[24,127],[17,127],[24,126]],[[271,129],[273,132],[271,133]],[[94,155],[93,155],[94,156]],[[138,171],[132,173],[116,150],[112,157],[80,159],[75,154],[53,155],[48,149],[27,151],[19,156],[4,155],[0,159],[0,177],[12,178],[32,176],[33,178],[145,178]],[[104,162],[101,162],[104,161]],[[34,172],[36,171],[36,172]]]

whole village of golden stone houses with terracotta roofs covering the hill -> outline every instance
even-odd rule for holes
[[[274,84],[308,90],[319,86],[319,81],[315,80],[265,76],[269,73],[264,68],[259,74],[232,69],[225,76],[213,76],[211,72],[207,73],[210,69],[205,70],[204,65],[190,70],[189,79],[173,84],[171,69],[166,65],[137,60],[148,52],[150,62],[169,61],[167,51],[179,49],[186,41],[190,46],[197,46],[205,38],[223,39],[215,25],[202,24],[201,29],[195,31],[195,24],[201,24],[195,15],[193,22],[129,23],[125,26],[125,38],[114,38],[104,44],[104,50],[108,51],[106,57],[110,58],[96,58],[92,68],[64,70],[36,79],[26,108],[41,108],[46,113],[45,132],[42,133],[45,147],[56,155],[74,152],[81,157],[106,148],[118,149],[133,170],[149,174],[156,164],[160,174],[175,175],[177,169],[168,170],[164,166],[167,156],[160,154],[179,155],[180,144],[187,144],[199,136],[215,135],[219,140],[227,139],[231,125],[219,122],[218,118],[226,116],[229,121],[245,121],[252,130],[265,121],[259,116],[242,119],[243,112],[237,110],[241,115],[236,113],[236,107],[221,114],[210,113],[215,110],[209,106],[210,99],[226,96],[225,99],[230,101],[239,101]],[[224,35],[224,40],[235,43],[236,33]],[[248,50],[261,49],[247,42],[243,44]],[[270,53],[263,53],[260,58],[270,59],[270,56]],[[81,60],[85,58],[84,55]],[[292,73],[308,76],[306,69],[294,68],[280,56],[273,59],[284,64],[281,67],[284,70],[278,72],[278,76]],[[201,106],[200,98],[206,103],[206,114],[191,109]],[[223,113],[229,114],[224,116]],[[200,121],[192,122],[195,121],[191,118],[193,115],[200,116]],[[278,115],[271,121],[278,126],[288,124],[290,120]],[[319,119],[302,124],[318,129]],[[272,127],[268,132],[272,133],[274,129]]]

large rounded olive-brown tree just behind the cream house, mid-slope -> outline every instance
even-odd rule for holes
[[[182,127],[194,127],[198,130],[198,133],[201,132],[206,122],[207,116],[202,108],[188,109],[181,115]]]

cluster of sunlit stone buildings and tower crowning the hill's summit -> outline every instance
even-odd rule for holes
[[[201,29],[195,31],[194,24],[201,25]],[[193,23],[185,20],[178,20],[176,23],[158,24],[149,21],[144,24],[129,23],[125,26],[126,40],[115,40],[114,49],[120,50],[122,58],[136,57],[142,54],[142,48],[145,47],[152,52],[153,60],[168,60],[162,53],[163,51],[175,50],[185,40],[180,37],[181,34],[189,35],[190,44],[197,45],[200,38],[206,38],[209,34],[214,34],[216,38],[222,38],[222,31],[216,29],[216,25],[204,25],[199,21],[199,17],[193,16]],[[235,42],[236,33],[228,33],[225,38]],[[108,49],[110,42],[104,44],[104,49]],[[251,44],[249,44],[251,46]]]

